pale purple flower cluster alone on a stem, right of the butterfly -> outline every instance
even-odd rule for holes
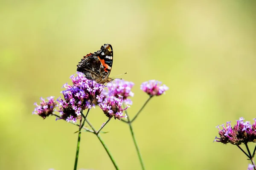
[[[158,82],[157,80],[149,80],[148,82],[143,82],[140,85],[140,89],[150,96],[159,96],[169,89],[166,85],[161,84],[162,82]]]

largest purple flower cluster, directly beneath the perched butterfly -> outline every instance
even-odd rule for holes
[[[86,79],[81,73],[77,74],[77,77],[74,75],[70,77],[73,82],[72,86],[64,84],[63,87],[66,88],[62,91],[64,99],[57,100],[60,119],[67,122],[76,122],[77,119],[81,119],[81,111],[94,106],[92,105],[94,99],[99,100],[103,97],[101,93],[104,85]]]

